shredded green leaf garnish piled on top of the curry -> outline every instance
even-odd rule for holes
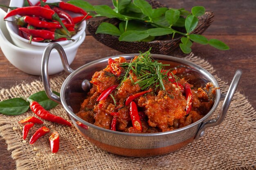
[[[139,84],[141,90],[146,90],[148,88],[160,88],[160,90],[165,90],[163,79],[167,80],[166,73],[161,73],[164,70],[164,66],[169,66],[169,64],[162,64],[157,60],[154,60],[150,55],[151,48],[145,52],[140,53],[140,55],[131,60],[130,63],[121,63],[119,66],[125,69],[125,75],[120,77],[121,84],[123,84],[126,79],[129,78],[129,73],[132,73],[137,77],[137,82],[133,82],[132,77],[130,77],[132,83]]]

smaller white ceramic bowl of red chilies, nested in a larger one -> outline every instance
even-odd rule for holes
[[[38,2],[38,0],[30,0],[30,1],[32,4],[36,4],[36,2]],[[47,2],[49,2],[49,3],[59,2],[59,0],[47,0]],[[22,5],[23,5],[23,0],[11,0],[9,6],[10,7],[22,7]],[[77,14],[77,13],[72,13],[72,12],[68,12],[68,13],[72,17],[79,16],[79,14]],[[7,20],[13,21],[14,17],[9,17],[9,18],[7,18]],[[45,47],[49,44],[47,42],[31,42],[31,44],[29,44],[28,43],[29,40],[22,38],[22,37],[20,37],[20,35],[18,35],[18,26],[16,24],[13,24],[12,22],[6,22],[6,26],[7,26],[7,30],[9,31],[9,34],[11,35],[11,40],[18,47],[21,47],[23,49],[44,50]],[[86,21],[83,21],[80,24],[79,29],[78,29],[80,31],[78,33],[76,33],[76,35],[74,35],[72,37],[72,39],[77,41],[80,38],[80,36],[85,32],[85,28],[86,28]],[[72,42],[71,40],[65,40],[65,41],[60,41],[57,43],[63,47],[67,47],[67,46],[73,46],[75,42]]]

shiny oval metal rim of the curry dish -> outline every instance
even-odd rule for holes
[[[146,136],[158,136],[158,135],[168,135],[168,134],[172,134],[175,132],[180,132],[182,130],[186,130],[189,129],[193,126],[196,126],[198,124],[203,123],[204,120],[206,120],[210,115],[212,115],[212,113],[216,110],[219,102],[220,102],[220,89],[216,90],[216,100],[213,104],[213,107],[211,108],[211,110],[204,115],[204,117],[202,117],[200,120],[195,121],[194,123],[185,126],[183,128],[178,128],[175,130],[170,130],[170,131],[166,131],[166,132],[157,132],[157,133],[127,133],[127,132],[119,132],[119,131],[113,131],[113,130],[108,130],[108,129],[104,129],[101,128],[99,126],[96,126],[94,124],[90,124],[87,121],[81,119],[80,117],[78,117],[75,113],[73,113],[72,110],[70,110],[70,108],[67,106],[66,102],[65,102],[65,97],[64,97],[64,90],[65,90],[65,86],[67,85],[68,82],[70,82],[70,80],[72,79],[72,77],[74,77],[74,75],[76,75],[77,73],[79,73],[80,71],[82,71],[83,69],[85,69],[87,66],[90,66],[91,64],[96,64],[98,62],[106,62],[108,61],[109,58],[115,59],[118,57],[134,57],[135,55],[139,55],[138,53],[134,53],[134,54],[124,54],[124,55],[114,55],[111,57],[104,57],[102,59],[99,60],[95,60],[93,62],[90,62],[88,64],[85,64],[79,68],[77,68],[74,72],[72,72],[63,82],[62,86],[61,86],[61,103],[64,107],[64,109],[67,111],[67,113],[72,116],[74,119],[80,121],[82,124],[85,124],[88,127],[91,128],[96,128],[97,130],[102,130],[104,132],[110,132],[110,133],[115,133],[117,135],[126,135],[126,136],[136,136],[136,137],[146,137]],[[173,57],[173,56],[168,56],[168,55],[160,55],[160,54],[151,54],[152,57],[161,57],[163,59],[168,59],[171,60],[173,62],[181,62],[182,64],[187,64],[189,66],[192,66],[192,68],[195,68],[197,71],[199,71],[201,74],[203,74],[205,77],[207,77],[209,80],[211,80],[211,82],[214,84],[214,86],[216,86],[217,88],[219,88],[219,84],[217,82],[217,80],[215,79],[215,77],[209,73],[207,70],[205,70],[204,68],[202,68],[201,66],[198,66],[197,64],[194,64],[193,62],[189,62],[187,60],[181,59],[181,58],[177,58],[177,57]]]

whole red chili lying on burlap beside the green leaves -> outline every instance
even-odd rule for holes
[[[38,102],[31,100],[31,99],[27,99],[27,101],[30,103],[30,109],[36,114],[38,115],[40,118],[48,120],[48,121],[52,121],[58,124],[63,124],[63,125],[67,125],[67,126],[72,126],[70,124],[70,122],[66,121],[65,119],[63,119],[62,117],[53,115],[52,113],[49,113],[47,110],[45,110],[43,108],[43,106],[41,106]]]

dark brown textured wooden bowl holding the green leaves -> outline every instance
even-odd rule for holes
[[[163,4],[160,4],[154,0],[148,0],[148,2],[152,5],[153,8],[165,7]],[[192,33],[202,34],[213,22],[214,14],[213,12],[206,12],[204,15],[199,17],[198,26],[195,28]],[[151,42],[125,42],[119,41],[118,37],[108,34],[95,34],[97,31],[98,26],[102,22],[109,22],[114,25],[119,24],[119,20],[117,19],[99,19],[99,20],[90,20],[87,24],[87,29],[90,34],[102,44],[109,46],[112,49],[120,51],[122,53],[138,53],[139,51],[148,51],[150,47],[152,47],[151,53],[154,54],[163,54],[166,55],[171,53],[177,47],[179,47],[180,39],[182,35],[176,34],[175,38],[171,40],[170,37],[162,36],[159,37],[158,40],[154,40]],[[185,30],[178,30],[184,32]],[[170,40],[168,40],[167,38]],[[167,39],[167,40],[166,40]]]

